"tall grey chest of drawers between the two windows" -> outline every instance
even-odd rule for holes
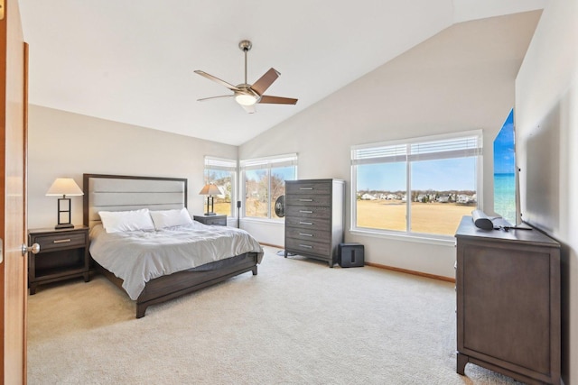
[[[285,257],[288,253],[337,263],[345,227],[345,182],[285,181]]]

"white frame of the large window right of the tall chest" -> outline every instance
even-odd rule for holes
[[[419,155],[415,155],[410,152],[412,146],[428,143],[428,142],[443,142],[443,141],[452,141],[452,140],[459,140],[459,139],[466,139],[466,138],[476,138],[476,146],[470,150],[466,150],[466,153],[469,155],[457,155],[459,152],[457,151],[437,151],[437,152],[426,152],[421,158]],[[404,161],[406,167],[406,197],[411,197],[412,191],[412,162],[418,160],[441,160],[441,159],[448,159],[448,158],[460,158],[465,156],[476,156],[476,196],[477,196],[477,208],[483,209],[483,132],[482,130],[470,130],[470,131],[462,131],[457,133],[443,133],[437,135],[428,135],[428,136],[420,136],[420,137],[413,137],[413,138],[406,138],[400,139],[395,141],[387,141],[387,142],[374,142],[374,143],[367,143],[367,144],[360,144],[351,146],[350,151],[350,160],[351,160],[351,205],[350,205],[350,233],[356,235],[369,235],[369,236],[376,236],[379,238],[390,238],[390,239],[403,239],[407,241],[417,242],[417,243],[439,243],[439,244],[450,244],[455,243],[455,239],[453,235],[444,235],[444,234],[428,234],[428,233],[417,233],[411,231],[411,200],[408,198],[406,199],[406,230],[405,231],[396,231],[396,230],[386,230],[386,229],[378,229],[378,228],[369,228],[369,227],[359,227],[357,225],[357,193],[358,193],[358,174],[357,174],[357,166],[363,164],[370,164],[370,163],[381,163],[384,164],[386,161],[378,161],[379,157],[371,158],[368,157],[367,160],[359,160],[356,159],[356,153],[358,151],[363,150],[378,150],[379,148],[386,148],[386,147],[396,147],[396,149],[391,149],[393,151],[389,151],[386,155],[389,158],[389,161]],[[403,151],[405,148],[406,152]],[[398,150],[398,151],[396,151]],[[446,156],[449,153],[454,153],[456,156],[448,157]],[[438,155],[435,155],[435,154]],[[383,155],[383,153],[382,153]],[[385,159],[385,158],[384,158]],[[457,226],[458,224],[456,224]]]

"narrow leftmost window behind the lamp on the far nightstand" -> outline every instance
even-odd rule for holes
[[[213,197],[213,211],[235,216],[237,160],[205,157],[205,184],[214,183],[222,195]]]

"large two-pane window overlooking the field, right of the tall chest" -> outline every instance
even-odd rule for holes
[[[478,206],[481,143],[475,131],[353,147],[353,229],[453,236]]]

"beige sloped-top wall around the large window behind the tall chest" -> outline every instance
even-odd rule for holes
[[[492,142],[514,106],[514,79],[538,18],[539,12],[456,24],[244,143],[239,157],[297,152],[299,179],[345,179],[349,226],[351,145],[483,129],[483,206],[492,212]],[[257,239],[267,231],[266,225],[252,224]],[[349,231],[345,238],[363,243],[370,262],[443,277],[455,274],[452,243]],[[283,233],[272,243],[283,245]]]

